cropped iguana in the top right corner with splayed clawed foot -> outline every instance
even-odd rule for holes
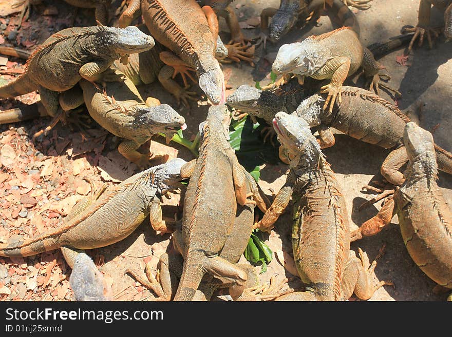
[[[406,32],[414,32],[411,42],[408,46],[408,52],[411,51],[413,44],[419,37],[419,46],[424,42],[424,36],[427,35],[428,46],[430,49],[433,46],[432,36],[438,37],[438,28],[430,27],[430,10],[431,6],[435,6],[444,11],[444,35],[447,39],[452,38],[452,1],[451,0],[420,0],[418,24],[414,28],[405,28]]]

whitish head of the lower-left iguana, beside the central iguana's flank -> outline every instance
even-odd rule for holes
[[[182,158],[174,158],[165,164],[161,164],[154,168],[154,183],[157,185],[157,192],[166,194],[174,190],[177,183],[183,180],[180,176],[181,167],[186,164]]]

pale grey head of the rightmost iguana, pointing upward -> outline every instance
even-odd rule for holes
[[[431,133],[414,122],[405,124],[403,143],[410,160],[425,152],[435,153],[434,140]]]

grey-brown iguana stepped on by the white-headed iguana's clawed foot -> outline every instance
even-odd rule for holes
[[[399,169],[408,161],[403,146],[403,130],[410,120],[396,106],[374,93],[356,87],[343,87],[342,103],[330,113],[323,109],[325,95],[304,100],[296,110],[310,127],[317,127],[322,148],[334,145],[333,127],[366,143],[391,150],[381,173],[388,182],[402,185]],[[452,154],[435,145],[439,169],[452,174]]]

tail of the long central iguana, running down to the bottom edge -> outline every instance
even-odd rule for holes
[[[196,290],[205,274],[203,266],[205,258],[203,252],[187,252],[174,301],[193,301]]]

